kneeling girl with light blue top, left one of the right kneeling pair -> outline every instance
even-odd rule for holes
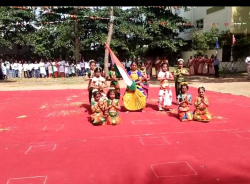
[[[178,116],[181,121],[193,120],[193,113],[190,111],[189,105],[192,105],[192,95],[187,93],[188,85],[186,82],[181,83],[181,94],[178,98]]]

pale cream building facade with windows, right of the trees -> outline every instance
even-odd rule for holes
[[[191,7],[190,11],[179,9],[179,16],[189,20],[194,28],[180,33],[180,37],[191,40],[194,31],[209,31],[217,26],[220,31],[230,30],[233,34],[250,33],[250,7],[202,6]]]

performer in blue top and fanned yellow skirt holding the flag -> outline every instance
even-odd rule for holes
[[[123,96],[124,107],[128,111],[143,111],[143,108],[146,106],[146,93],[140,86],[142,74],[137,70],[137,63],[135,61],[131,63],[131,70],[128,72],[128,75],[133,80],[133,85],[127,88]]]

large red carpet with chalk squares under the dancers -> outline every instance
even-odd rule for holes
[[[200,123],[149,93],[145,113],[92,126],[87,91],[0,92],[0,184],[250,183],[249,98],[207,92],[215,117]]]

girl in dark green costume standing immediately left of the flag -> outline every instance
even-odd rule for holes
[[[118,72],[115,70],[115,66],[111,66],[111,70],[108,73],[108,79],[110,80],[110,87],[114,88],[116,91],[116,99],[120,99],[120,85],[118,81]]]

